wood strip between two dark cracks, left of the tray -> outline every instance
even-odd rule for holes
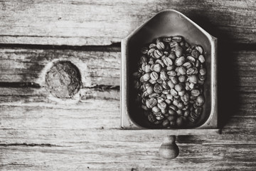
[[[32,82],[46,86],[45,76],[55,61],[70,61],[78,67],[82,86],[119,86],[121,53],[111,51],[56,49],[0,49],[0,81]],[[109,52],[111,51],[111,52]]]

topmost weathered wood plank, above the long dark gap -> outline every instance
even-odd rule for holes
[[[0,43],[110,45],[164,9],[176,9],[213,36],[256,43],[250,1],[1,1]]]

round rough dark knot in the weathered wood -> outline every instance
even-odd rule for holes
[[[46,83],[57,98],[72,98],[80,89],[80,72],[70,61],[58,61],[46,73]]]

